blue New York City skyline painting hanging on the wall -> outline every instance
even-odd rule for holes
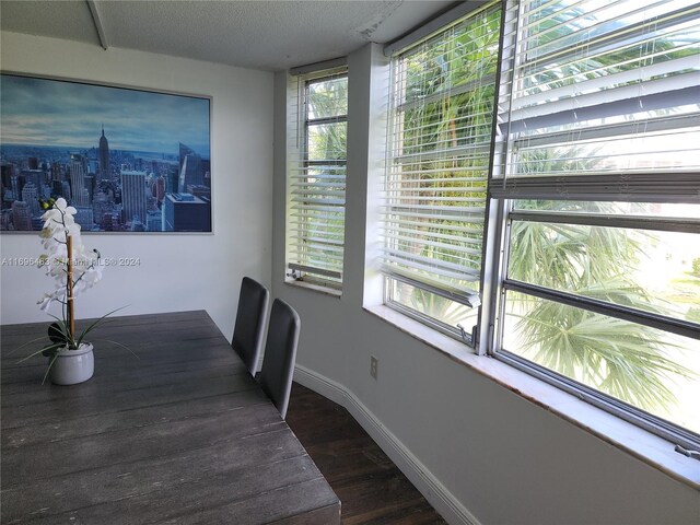
[[[210,98],[2,73],[0,231],[211,232]]]

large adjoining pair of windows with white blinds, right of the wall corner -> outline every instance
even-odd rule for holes
[[[700,450],[700,4],[485,4],[393,70],[387,304]]]

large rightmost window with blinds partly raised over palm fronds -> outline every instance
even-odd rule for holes
[[[493,185],[508,253],[494,355],[687,446],[700,434],[692,4],[513,4]]]

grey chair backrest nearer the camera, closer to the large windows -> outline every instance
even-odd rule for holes
[[[258,381],[280,411],[282,419],[287,416],[289,395],[292,389],[300,328],[301,320],[294,308],[284,301],[276,299],[270,313],[262,370]]]

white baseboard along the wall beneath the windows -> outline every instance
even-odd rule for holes
[[[448,524],[480,525],[479,521],[352,392],[301,365],[294,369],[294,381],[346,408]]]

